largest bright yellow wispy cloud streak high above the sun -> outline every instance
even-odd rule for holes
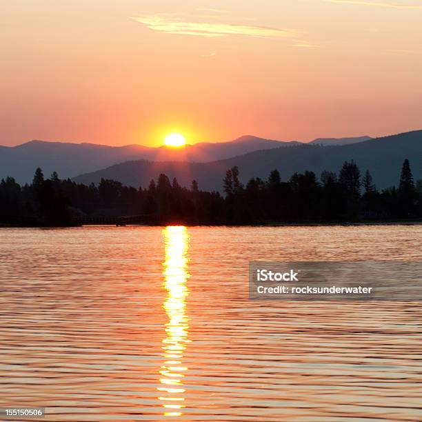
[[[202,18],[202,17],[201,17]],[[196,35],[197,37],[227,37],[243,35],[248,37],[295,37],[299,31],[292,29],[270,28],[268,26],[241,25],[237,23],[221,23],[198,21],[199,17],[188,14],[144,14],[132,17],[154,31],[167,34]],[[195,21],[197,20],[197,21]]]

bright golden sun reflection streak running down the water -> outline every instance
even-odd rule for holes
[[[188,230],[183,225],[172,225],[163,229],[165,260],[163,262],[164,288],[167,297],[163,308],[168,316],[163,339],[164,364],[161,366],[160,395],[164,416],[181,416],[185,408],[183,388],[183,354],[189,343],[186,298],[189,294],[186,281],[188,273]]]

